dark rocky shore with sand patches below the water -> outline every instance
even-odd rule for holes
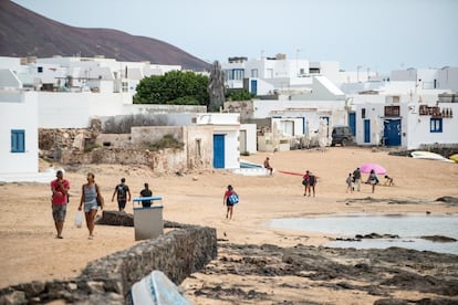
[[[458,255],[403,248],[280,248],[220,241],[218,259],[181,286],[196,304],[367,304],[362,295],[378,305],[458,304],[457,263]],[[322,293],[329,295],[326,302]]]

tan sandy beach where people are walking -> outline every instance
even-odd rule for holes
[[[105,197],[105,209],[117,210],[117,203],[111,202],[114,187],[122,177],[126,178],[133,197],[138,197],[144,182],[149,182],[155,196],[164,198],[164,219],[181,223],[212,227],[217,229],[218,239],[226,245],[219,250],[230,256],[227,244],[273,244],[291,248],[298,244],[321,245],[329,241],[329,235],[273,230],[269,220],[283,217],[301,217],[329,213],[458,213],[458,206],[435,201],[444,196],[458,197],[458,165],[434,160],[413,159],[388,155],[386,149],[357,147],[332,147],[324,151],[291,150],[274,154],[259,152],[242,159],[262,164],[270,157],[274,168],[273,176],[240,176],[226,170],[211,172],[184,172],[183,175],[158,176],[146,167],[126,167],[121,165],[83,165],[65,167],[41,161],[41,169],[63,167],[65,178],[71,183],[71,199],[63,231],[63,240],[55,239],[51,215],[50,186],[43,183],[3,183],[0,213],[0,287],[30,282],[34,280],[51,281],[76,276],[87,262],[108,253],[132,246],[133,228],[96,225],[95,239],[87,240],[87,230],[75,228],[75,217],[81,196],[81,186],[89,171],[95,173]],[[363,185],[361,192],[346,193],[345,179],[357,166],[376,162],[387,169],[394,178],[393,187],[377,186],[375,193],[371,186]],[[301,177],[280,171],[303,173],[311,170],[318,177],[316,196],[304,197]],[[367,175],[363,173],[363,180]],[[383,183],[383,177],[379,177]],[[232,185],[240,194],[240,203],[235,207],[233,219],[226,219],[222,197],[228,185]],[[347,199],[382,199],[367,204],[365,201]],[[404,204],[388,204],[388,200],[405,200]],[[386,201],[385,201],[386,200]],[[409,203],[410,202],[410,203]],[[133,211],[133,203],[126,212]],[[217,264],[212,262],[212,264]],[[304,295],[277,286],[274,283],[259,282],[259,277],[237,276],[221,277],[220,274],[201,273],[186,280],[181,290],[196,304],[221,304],[215,299],[199,296],[195,291],[206,283],[223,281],[227,285],[242,281],[247,287],[269,290],[275,287],[275,302],[300,303]],[[223,280],[222,280],[223,278]],[[455,278],[457,280],[457,278]],[[287,281],[288,282],[288,281]],[[329,290],[308,285],[306,299],[329,304],[367,304],[374,296],[354,292],[339,292],[330,295]],[[414,292],[404,297],[415,299],[428,296]],[[456,296],[455,296],[456,297]],[[228,299],[235,304],[237,299]],[[239,299],[241,302],[241,299]],[[244,302],[242,302],[244,303]],[[246,303],[251,303],[247,301]],[[253,303],[257,302],[254,299]],[[225,302],[222,302],[225,304]],[[267,303],[272,304],[272,303]]]

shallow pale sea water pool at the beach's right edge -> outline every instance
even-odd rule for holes
[[[284,218],[270,221],[271,228],[319,232],[342,240],[331,241],[326,246],[385,249],[402,246],[419,251],[458,254],[458,241],[434,242],[420,236],[441,235],[458,240],[458,215],[456,214],[335,214],[309,218]],[[354,239],[356,234],[398,235],[386,239]]]

